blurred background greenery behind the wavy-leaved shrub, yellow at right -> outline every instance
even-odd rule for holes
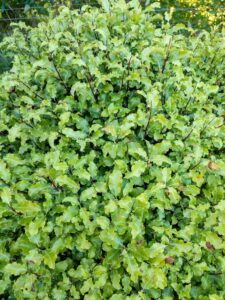
[[[10,23],[24,21],[36,26],[47,18],[49,12],[57,12],[60,5],[80,8],[82,5],[98,5],[100,0],[1,0],[0,1],[0,41],[10,34]],[[156,0],[140,0],[148,5]],[[185,23],[195,28],[210,30],[215,24],[224,24],[225,0],[159,0],[164,13],[174,7],[173,23]],[[0,74],[10,68],[10,61],[0,48]]]

